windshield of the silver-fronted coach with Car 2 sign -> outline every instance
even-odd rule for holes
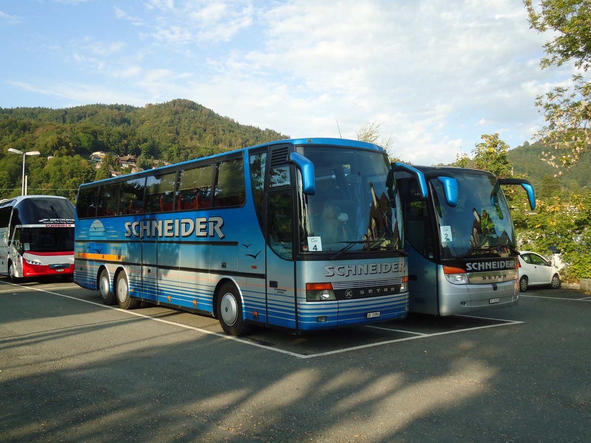
[[[439,225],[441,257],[507,253],[515,249],[509,206],[496,178],[488,174],[457,173],[457,207],[447,206],[443,184],[430,180]]]

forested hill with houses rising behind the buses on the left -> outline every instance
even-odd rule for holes
[[[8,148],[41,152],[26,158],[30,194],[72,198],[72,190],[98,178],[87,161],[92,152],[134,155],[139,165],[150,159],[176,163],[284,138],[182,99],[143,108],[0,108],[0,197],[20,195],[22,157]]]

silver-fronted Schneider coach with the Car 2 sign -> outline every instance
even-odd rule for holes
[[[415,166],[395,172],[404,211],[410,312],[467,314],[519,302],[517,237],[501,185],[521,185],[535,208],[534,188],[468,168]]]

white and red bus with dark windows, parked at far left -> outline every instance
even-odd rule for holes
[[[74,205],[64,197],[0,200],[0,273],[11,281],[74,274]]]

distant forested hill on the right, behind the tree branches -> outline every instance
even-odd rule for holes
[[[591,189],[591,152],[585,152],[573,167],[567,169],[548,164],[543,155],[543,152],[547,151],[547,146],[541,142],[525,142],[522,146],[509,150],[507,158],[513,164],[514,174],[527,174],[534,188],[539,187],[543,180],[547,181],[549,177],[556,175],[556,183],[570,191],[577,191],[579,188]]]

